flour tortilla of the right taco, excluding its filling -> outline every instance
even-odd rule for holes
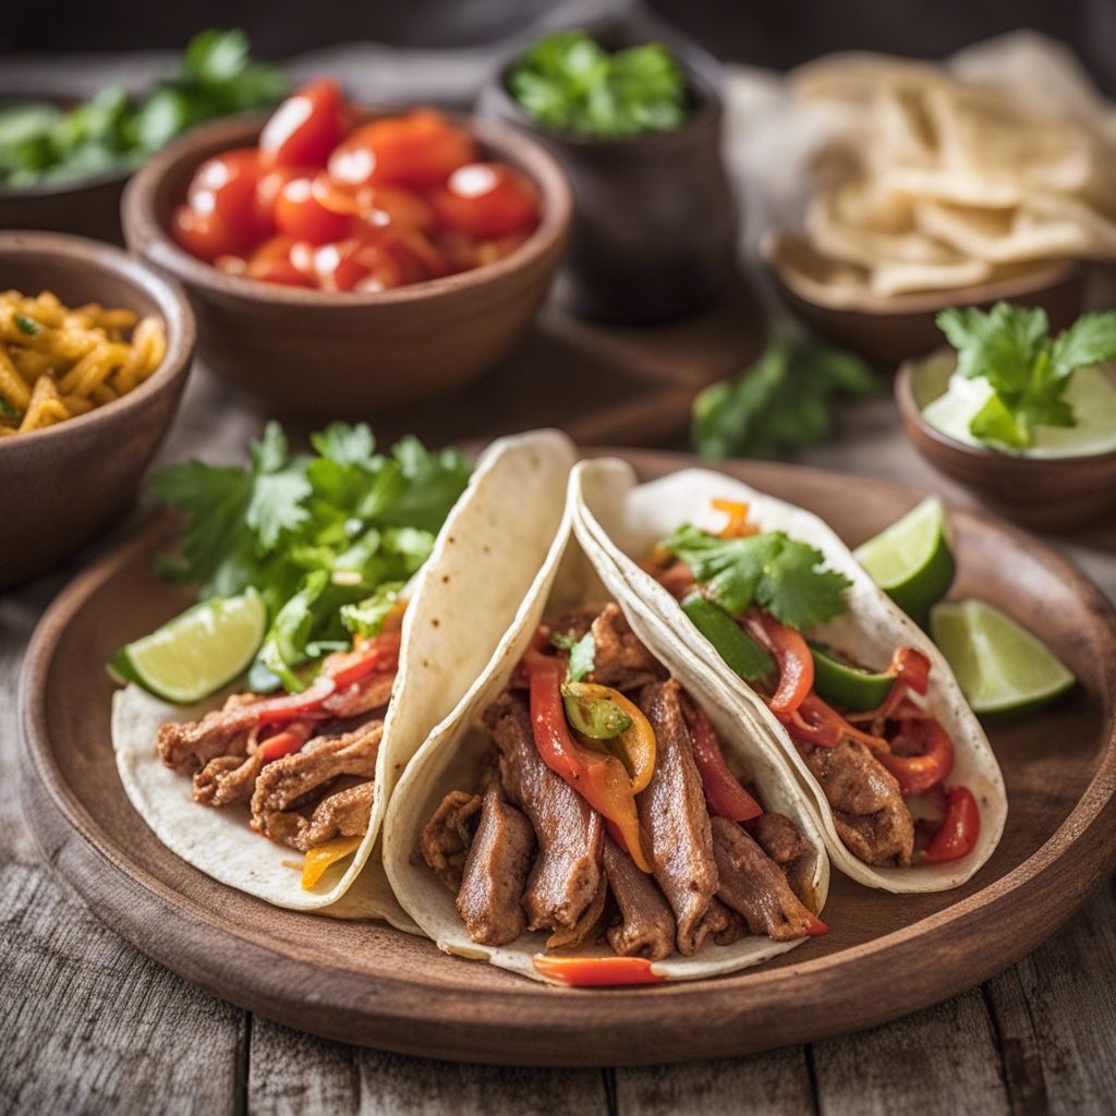
[[[821,825],[829,857],[841,872],[869,887],[889,892],[935,892],[964,883],[988,860],[1000,841],[1008,815],[1003,777],[988,738],[937,648],[876,586],[826,523],[730,477],[700,469],[637,484],[635,473],[622,461],[587,461],[575,469],[570,484],[577,492],[575,530],[583,545],[590,552],[596,551],[623,578],[628,600],[642,603],[666,624],[676,641],[705,663],[724,690],[734,695],[738,710],[747,715],[749,723],[763,727],[772,754],[781,757],[802,787]],[[848,613],[817,628],[820,641],[875,670],[886,668],[896,647],[915,647],[930,658],[926,701],[953,741],[955,754],[950,781],[969,787],[980,805],[980,838],[963,860],[875,868],[855,857],[837,836],[825,795],[786,730],[759,695],[729,670],[674,597],[639,568],[638,560],[650,554],[655,542],[682,523],[719,529],[723,516],[711,508],[714,497],[747,503],[749,519],[762,530],[781,530],[792,539],[817,547],[827,565],[853,583],[847,590]],[[622,596],[619,589],[617,596]]]

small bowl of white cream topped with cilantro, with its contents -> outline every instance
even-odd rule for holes
[[[951,348],[902,366],[903,426],[936,469],[1040,530],[1116,512],[1116,310],[1054,336],[1041,308],[937,316]]]

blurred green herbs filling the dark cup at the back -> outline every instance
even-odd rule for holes
[[[668,47],[609,52],[585,31],[535,42],[512,67],[508,89],[539,124],[603,138],[670,132],[689,114],[685,70]]]

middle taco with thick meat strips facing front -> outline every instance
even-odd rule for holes
[[[782,764],[566,530],[489,670],[401,779],[396,897],[439,947],[558,983],[694,979],[825,933]]]

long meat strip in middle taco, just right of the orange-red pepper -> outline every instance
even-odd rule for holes
[[[647,836],[655,879],[677,921],[683,956],[701,949],[712,930],[706,916],[716,894],[716,862],[701,776],[682,715],[677,682],[656,682],[639,692],[657,742],[655,773],[636,798],[641,828]]]

